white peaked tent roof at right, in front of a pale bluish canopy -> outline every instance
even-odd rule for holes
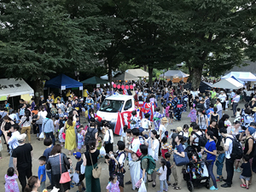
[[[216,84],[212,84],[212,87],[230,89],[230,90],[238,90],[243,87],[243,84],[239,83],[233,78],[221,79]]]

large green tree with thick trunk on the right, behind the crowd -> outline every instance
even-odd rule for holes
[[[246,47],[242,33],[253,2],[183,0],[172,7],[181,16],[175,55],[189,67],[193,88],[199,87],[204,67],[218,76],[241,65]]]

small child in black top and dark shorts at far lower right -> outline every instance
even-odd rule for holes
[[[244,163],[241,164],[242,172],[240,175],[241,187],[249,189],[249,181],[252,177],[251,164],[249,162],[250,156],[248,154],[243,155]]]

